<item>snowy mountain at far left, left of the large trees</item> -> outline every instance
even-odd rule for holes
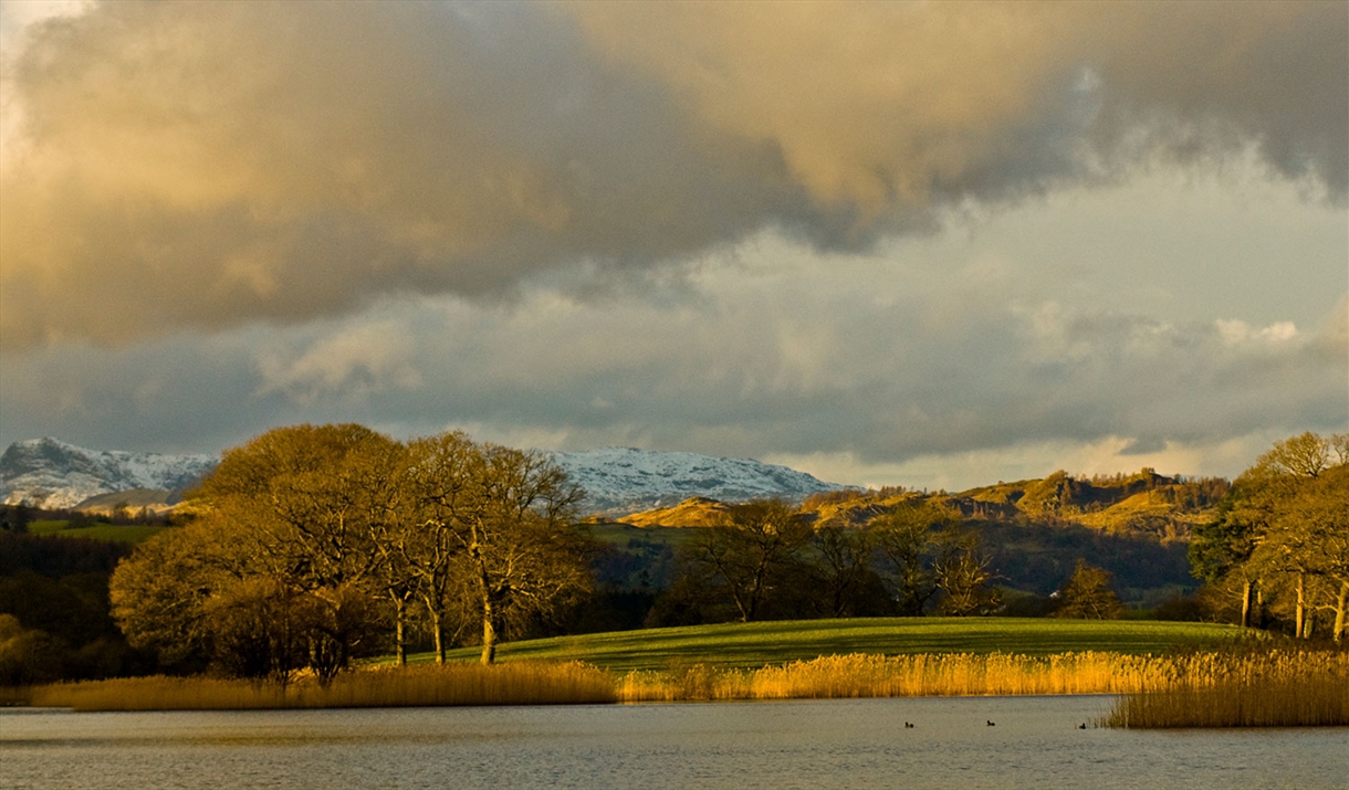
[[[182,491],[219,462],[219,456],[89,450],[53,438],[28,439],[0,456],[0,499],[63,508],[132,488]]]

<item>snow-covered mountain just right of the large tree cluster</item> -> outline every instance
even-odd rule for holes
[[[606,515],[668,507],[691,496],[746,502],[780,496],[804,499],[847,488],[805,472],[749,458],[602,448],[553,453],[553,458],[590,495],[588,510]]]

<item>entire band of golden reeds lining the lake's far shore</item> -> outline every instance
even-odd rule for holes
[[[1349,724],[1349,652],[1251,651],[1139,657],[831,655],[759,670],[689,665],[615,677],[577,662],[386,667],[328,686],[128,678],[32,689],[31,704],[77,710],[548,705],[838,697],[1120,694],[1102,727]]]

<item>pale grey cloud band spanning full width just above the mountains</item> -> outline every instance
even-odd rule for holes
[[[1236,475],[1273,439],[1349,429],[1344,291],[1319,322],[1288,328],[1072,303],[978,259],[960,271],[936,257],[951,274],[921,276],[929,262],[894,249],[816,260],[777,235],[728,256],[692,275],[696,301],[592,305],[536,287],[511,310],[389,301],[281,330],[16,355],[4,430],[206,452],[274,425],[356,421],[958,488],[1055,468]]]

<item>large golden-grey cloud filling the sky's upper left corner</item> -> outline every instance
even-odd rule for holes
[[[532,7],[107,3],[30,38],[9,348],[509,295],[561,264],[699,249],[792,200],[737,177],[762,155],[704,152],[658,90]]]

